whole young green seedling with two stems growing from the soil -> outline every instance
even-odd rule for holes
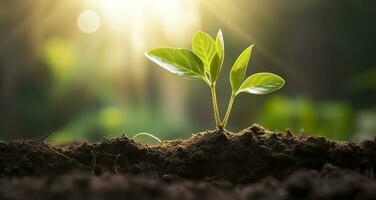
[[[230,72],[231,97],[223,120],[220,118],[216,82],[224,59],[224,41],[219,30],[215,40],[204,32],[197,32],[192,39],[192,50],[185,48],[155,48],[145,53],[153,62],[167,71],[187,79],[201,79],[210,88],[214,118],[217,128],[226,127],[234,99],[240,93],[263,95],[283,87],[285,81],[278,75],[262,72],[244,80],[253,45],[246,48],[235,61]]]

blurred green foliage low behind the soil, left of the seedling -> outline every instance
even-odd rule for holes
[[[107,106],[86,112],[72,119],[63,129],[52,132],[52,141],[71,140],[98,141],[103,137],[125,134],[132,137],[140,132],[150,132],[163,139],[188,136],[190,124],[187,121],[173,121],[155,108],[137,106]]]

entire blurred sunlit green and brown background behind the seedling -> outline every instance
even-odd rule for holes
[[[147,60],[158,46],[190,48],[198,30],[222,29],[228,72],[254,44],[248,74],[286,80],[266,96],[235,100],[228,129],[331,139],[376,135],[376,1],[2,0],[0,137],[96,141],[151,132],[162,139],[213,129],[210,92]]]

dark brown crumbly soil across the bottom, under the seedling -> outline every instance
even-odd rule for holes
[[[253,125],[147,146],[126,136],[0,142],[0,199],[376,199],[376,138],[339,142]]]

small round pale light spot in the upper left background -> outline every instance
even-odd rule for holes
[[[100,18],[92,10],[83,11],[77,18],[77,26],[84,33],[94,33],[98,30]]]

